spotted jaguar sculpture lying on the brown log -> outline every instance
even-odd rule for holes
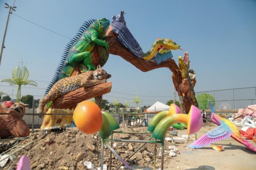
[[[44,106],[54,99],[74,91],[80,87],[91,87],[106,82],[111,77],[105,70],[98,65],[94,71],[87,71],[72,77],[67,77],[56,82],[48,94],[39,101],[37,113],[43,113]]]

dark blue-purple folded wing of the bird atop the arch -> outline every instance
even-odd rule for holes
[[[111,22],[111,27],[113,32],[117,34],[117,40],[124,47],[129,49],[133,55],[137,56],[138,58],[142,58],[142,48],[140,47],[137,40],[133,37],[130,30],[126,27],[126,25],[122,22],[113,21]]]

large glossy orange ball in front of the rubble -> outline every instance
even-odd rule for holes
[[[102,126],[101,109],[93,101],[82,101],[75,108],[73,120],[79,130],[86,134],[94,134]]]

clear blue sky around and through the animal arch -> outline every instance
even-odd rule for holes
[[[4,3],[13,6],[14,1],[0,0],[1,43],[9,11]],[[126,25],[144,52],[156,38],[170,38],[181,45],[184,50],[172,51],[175,61],[189,52],[190,69],[196,71],[196,92],[256,86],[256,1],[253,0],[17,0],[15,6],[5,39],[0,80],[11,78],[14,66],[23,58],[30,72],[29,79],[36,81],[38,87],[23,86],[21,96],[43,97],[69,42],[66,37],[72,38],[84,21],[111,20],[121,11],[125,11]],[[173,99],[169,69],[141,72],[114,55],[110,55],[103,69],[112,75],[111,92],[103,96],[110,102],[132,101],[135,95],[143,101],[140,106]],[[0,82],[0,91],[15,98],[17,86]]]

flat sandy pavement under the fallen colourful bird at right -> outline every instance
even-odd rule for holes
[[[197,138],[214,129],[217,125],[206,125],[197,132]],[[239,128],[239,127],[238,127]],[[178,130],[179,134],[186,134],[185,130]],[[256,147],[256,143],[249,140]],[[191,142],[179,145],[180,155],[174,157],[166,169],[256,169],[256,153],[245,148],[233,138],[215,142],[222,145],[224,151],[212,149],[212,145],[200,149],[187,148]]]

